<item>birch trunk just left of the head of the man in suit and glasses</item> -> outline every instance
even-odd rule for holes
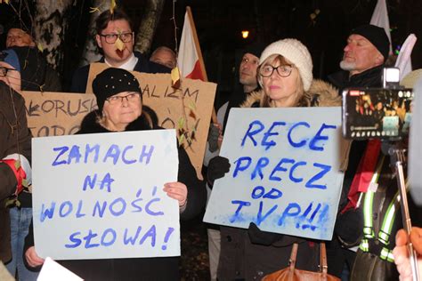
[[[89,27],[88,33],[86,35],[85,45],[84,45],[84,52],[82,52],[82,58],[79,61],[79,66],[85,66],[90,64],[93,61],[97,61],[101,59],[101,53],[98,50],[97,42],[95,41],[95,20],[106,10],[110,9],[110,1],[104,0],[94,0],[93,7],[98,8],[100,11],[93,12],[91,14],[91,19],[89,20]]]

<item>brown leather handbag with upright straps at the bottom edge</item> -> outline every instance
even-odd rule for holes
[[[320,243],[320,269],[321,271],[313,272],[302,269],[296,269],[296,256],[298,244],[295,243],[290,254],[289,266],[286,269],[273,272],[272,274],[264,276],[263,281],[304,281],[304,280],[329,280],[339,281],[340,279],[329,275],[327,273],[327,252],[325,250],[325,243]]]

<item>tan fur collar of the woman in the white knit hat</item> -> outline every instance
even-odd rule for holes
[[[261,107],[264,99],[264,90],[251,92],[241,108]],[[322,80],[313,80],[311,88],[304,92],[298,106],[302,107],[337,107],[341,105],[341,96],[331,84]]]

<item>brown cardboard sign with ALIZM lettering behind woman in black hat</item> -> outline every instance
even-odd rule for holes
[[[109,66],[92,63],[86,92],[93,92],[93,79]],[[202,179],[201,170],[211,114],[214,106],[216,84],[182,78],[180,90],[172,88],[170,74],[148,74],[132,71],[142,89],[142,102],[154,109],[158,125],[176,129],[180,143]],[[185,135],[181,137],[181,134]]]

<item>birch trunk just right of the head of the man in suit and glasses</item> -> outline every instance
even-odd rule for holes
[[[134,43],[134,51],[147,53],[150,51],[152,39],[158,27],[165,0],[148,0],[147,9],[138,29]]]

